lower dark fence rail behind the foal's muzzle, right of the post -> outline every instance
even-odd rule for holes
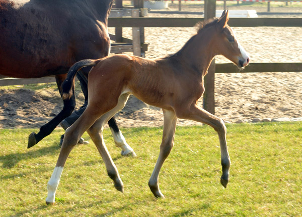
[[[302,63],[250,63],[239,69],[232,63],[216,64],[215,73],[302,72]]]

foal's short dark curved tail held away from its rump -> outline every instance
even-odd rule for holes
[[[77,72],[86,66],[95,66],[100,62],[100,59],[98,60],[81,60],[73,66],[70,67],[67,78],[62,84],[62,99],[70,99],[70,97],[73,95],[74,90],[74,77],[77,74]]]

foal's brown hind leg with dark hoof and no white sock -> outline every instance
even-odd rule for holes
[[[93,142],[97,146],[98,151],[100,152],[109,177],[114,181],[114,187],[121,191],[124,192],[124,187],[123,187],[123,182],[118,174],[117,168],[107,150],[107,147],[105,145],[104,139],[103,139],[103,128],[106,122],[113,116],[115,115],[116,112],[121,110],[127,100],[128,100],[129,94],[123,94],[119,97],[117,105],[111,109],[109,112],[105,113],[102,115],[101,118],[99,118],[88,130],[87,132],[89,133],[90,137],[92,138]]]

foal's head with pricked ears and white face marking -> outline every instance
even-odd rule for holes
[[[216,51],[218,54],[231,60],[238,67],[245,67],[249,64],[250,58],[244,48],[239,44],[231,27],[228,26],[229,11],[224,11],[216,23],[218,40]]]

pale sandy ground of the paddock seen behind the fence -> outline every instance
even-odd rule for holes
[[[176,5],[177,6],[177,5]],[[173,6],[176,8],[175,6]],[[177,10],[170,8],[171,10]],[[220,9],[217,7],[217,9]],[[232,9],[232,8],[230,8]],[[242,9],[242,8],[241,8]],[[266,11],[266,8],[248,10]],[[185,7],[183,11],[199,11]],[[302,12],[302,8],[272,8],[274,12]],[[272,15],[273,17],[302,17],[302,15]],[[262,17],[272,17],[262,16]],[[200,17],[200,15],[149,14],[149,17]],[[233,28],[251,62],[302,62],[302,28],[257,27]],[[114,33],[114,29],[109,29]],[[156,59],[177,52],[195,33],[194,28],[145,28],[145,42],[149,43],[145,56]],[[131,37],[131,29],[123,29],[124,37]],[[216,63],[230,63],[217,57]],[[234,73],[215,75],[215,115],[225,121],[252,120],[254,118],[302,117],[302,73]],[[80,100],[83,96],[79,94]],[[199,104],[202,105],[202,99]],[[26,89],[0,90],[0,128],[38,128],[49,121],[62,108],[59,94],[53,90],[39,93]],[[161,126],[160,109],[150,107],[131,97],[118,113],[122,127]],[[198,124],[179,120],[178,125]]]

